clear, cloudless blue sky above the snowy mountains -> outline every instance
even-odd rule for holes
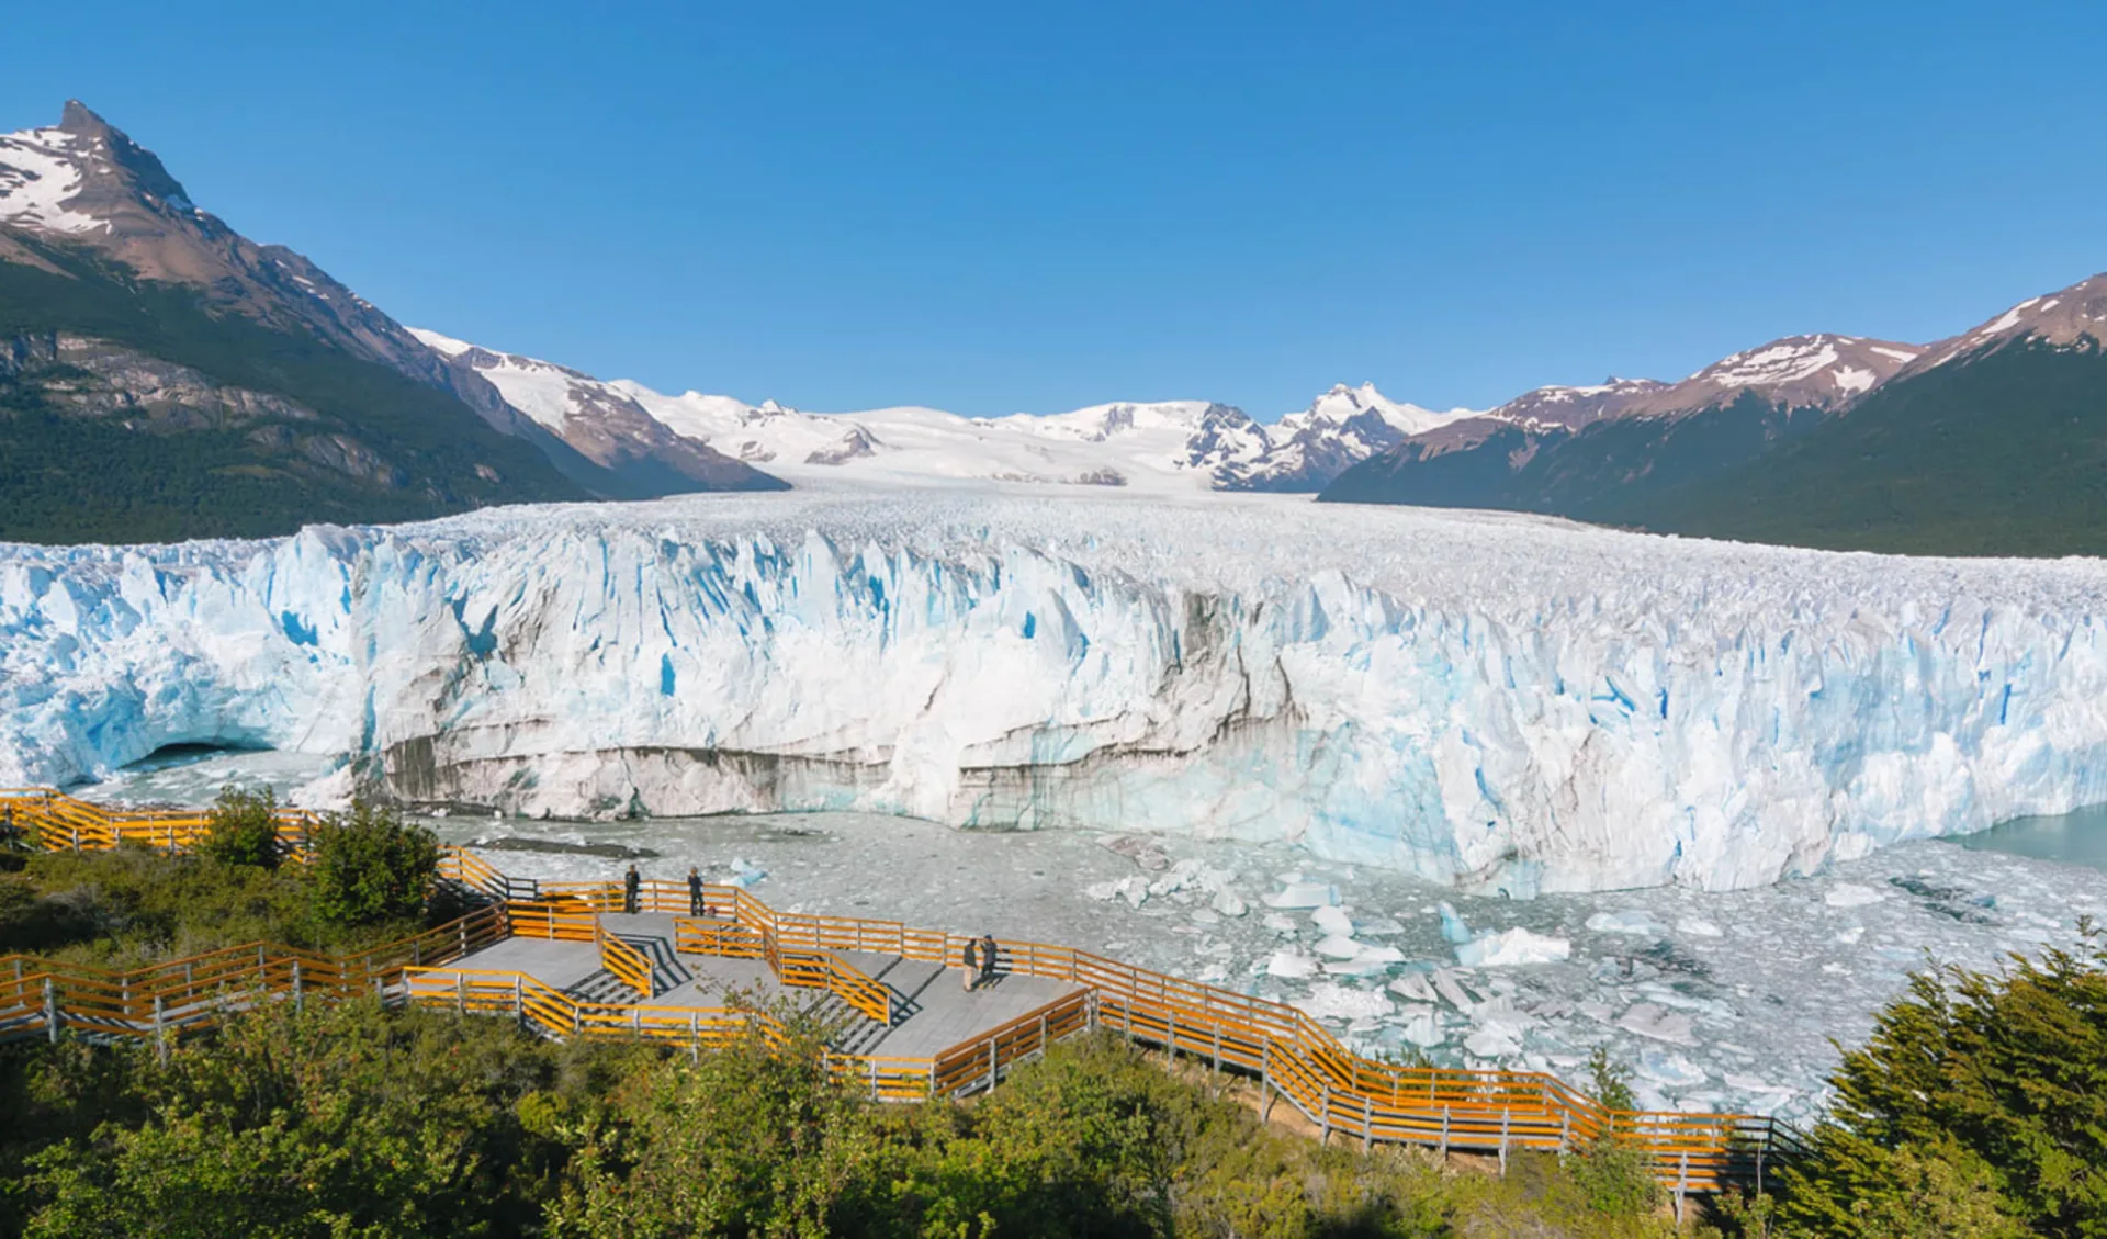
[[[594,15],[596,13],[596,15]],[[662,390],[1496,405],[2107,270],[2107,4],[19,4],[396,318]]]

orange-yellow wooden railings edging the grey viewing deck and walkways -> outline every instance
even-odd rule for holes
[[[101,849],[124,841],[183,849],[202,834],[202,815],[196,813],[120,813],[44,788],[0,792],[0,813],[11,813],[13,822],[25,826],[32,841],[46,849]],[[508,891],[516,885],[468,851],[449,849],[442,866],[447,877],[474,889]],[[541,900],[487,908],[476,914],[485,917],[483,921],[464,917],[449,927],[407,940],[407,944],[428,942],[413,946],[413,957],[407,961],[398,955],[388,955],[386,963],[369,959],[405,944],[369,952],[360,963],[244,946],[137,974],[95,974],[29,957],[0,959],[0,1037],[23,1030],[55,1037],[61,1028],[162,1032],[196,1018],[196,995],[215,984],[228,990],[236,978],[247,992],[377,988],[421,1005],[508,1011],[558,1037],[632,1035],[704,1045],[759,1026],[748,1011],[577,1003],[520,974],[434,967],[508,933],[569,942],[598,940],[605,963],[609,938],[598,933],[598,912],[622,910],[622,887],[541,883],[539,896]],[[685,885],[645,881],[638,889],[641,910],[676,914],[676,950],[767,959],[784,984],[830,988],[872,1020],[889,1020],[891,990],[834,952],[870,950],[950,967],[967,942],[954,933],[914,929],[898,921],[777,912],[746,889],[729,885],[704,887],[704,902],[710,919],[693,919],[687,914],[691,902]],[[442,955],[419,959],[421,950]],[[626,944],[622,950],[636,959],[624,959],[622,969],[609,967],[609,971],[649,997],[649,961]],[[253,959],[244,952],[253,952]],[[175,982],[166,969],[179,967],[190,969],[190,978],[171,988]],[[1081,1028],[1100,1026],[1201,1058],[1218,1068],[1252,1073],[1264,1083],[1268,1104],[1275,1096],[1285,1098],[1325,1136],[1336,1132],[1363,1142],[1500,1153],[1566,1150],[1614,1138],[1643,1150],[1665,1182],[1686,1191],[1717,1191],[1747,1182],[1751,1172],[1757,1178],[1764,1174],[1766,1161],[1799,1153],[1797,1134],[1761,1115],[1608,1110],[1542,1073],[1407,1068],[1376,1062],[1346,1049],[1323,1024],[1296,1007],[1066,946],[1001,942],[997,967],[1070,982],[1081,992],[929,1060],[830,1056],[830,1070],[845,1081],[864,1083],[877,1098],[952,1096],[986,1087],[1009,1064]],[[206,980],[196,980],[198,976]],[[638,980],[643,984],[636,984]],[[171,1005],[177,995],[181,1001]]]

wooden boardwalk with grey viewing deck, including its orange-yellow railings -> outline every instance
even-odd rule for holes
[[[0,826],[29,847],[145,845],[179,853],[202,813],[112,811],[48,788],[0,788]],[[303,856],[312,820],[280,815]],[[786,1047],[790,1028],[752,1003],[782,999],[822,1018],[815,1049],[872,1100],[921,1102],[995,1087],[1066,1037],[1102,1028],[1136,1043],[1258,1077],[1266,1106],[1302,1110],[1323,1138],[1450,1150],[1568,1153],[1616,1140],[1677,1197],[1764,1186],[1804,1155],[1791,1125],[1761,1115],[1616,1110],[1557,1077],[1397,1066],[1363,1058],[1308,1014],[1235,990],[1043,942],[1003,940],[999,980],[961,990],[965,938],[898,921],[777,912],[752,893],[706,885],[706,914],[674,883],[645,881],[645,914],[624,914],[615,883],[535,883],[445,849],[440,879],[478,910],[356,957],[268,942],[124,974],[0,957],[0,1041],[65,1032],[141,1037],[166,1047],[183,1028],[263,1001],[377,995],[518,1020],[550,1037],[624,1037],[702,1054],[748,1037]]]

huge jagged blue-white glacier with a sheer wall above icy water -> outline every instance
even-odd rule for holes
[[[0,546],[0,784],[169,744],[520,815],[1289,841],[1742,889],[2107,801],[2107,565],[1281,497],[501,508]]]

